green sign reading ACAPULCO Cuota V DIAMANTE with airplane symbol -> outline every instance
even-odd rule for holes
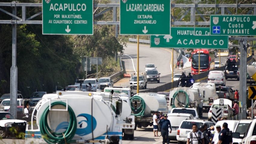
[[[256,36],[256,15],[211,15],[210,35]]]

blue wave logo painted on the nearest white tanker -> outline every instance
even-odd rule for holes
[[[95,128],[97,126],[97,122],[94,117],[92,117],[92,119],[91,119],[90,114],[79,114],[77,116],[77,118],[78,117],[81,120],[78,121],[78,126],[77,126],[75,134],[77,134],[78,136],[85,136],[92,132],[91,129],[95,130]],[[91,125],[91,122],[93,123],[93,126]],[[68,126],[69,126],[69,122],[62,122],[56,127],[55,132],[57,132],[58,130],[61,130],[61,129],[67,130]]]

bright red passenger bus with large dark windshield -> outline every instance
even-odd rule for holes
[[[192,75],[198,74],[199,69],[199,49],[194,50],[189,58],[191,62]],[[210,54],[207,49],[200,49],[200,72],[214,69],[214,54]]]

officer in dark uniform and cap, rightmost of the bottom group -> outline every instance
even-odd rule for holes
[[[218,144],[232,144],[232,142],[232,131],[229,130],[228,123],[223,123]]]

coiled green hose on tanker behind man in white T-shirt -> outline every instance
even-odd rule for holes
[[[140,101],[140,107],[137,108],[136,112],[139,112],[138,114],[134,114],[132,113],[132,115],[136,116],[136,117],[143,117],[144,116],[144,112],[145,112],[145,108],[146,108],[146,103],[145,101],[139,97],[139,96],[133,96],[130,99],[130,103],[131,103],[131,109],[133,112],[135,112],[135,107],[132,106],[133,101]]]

